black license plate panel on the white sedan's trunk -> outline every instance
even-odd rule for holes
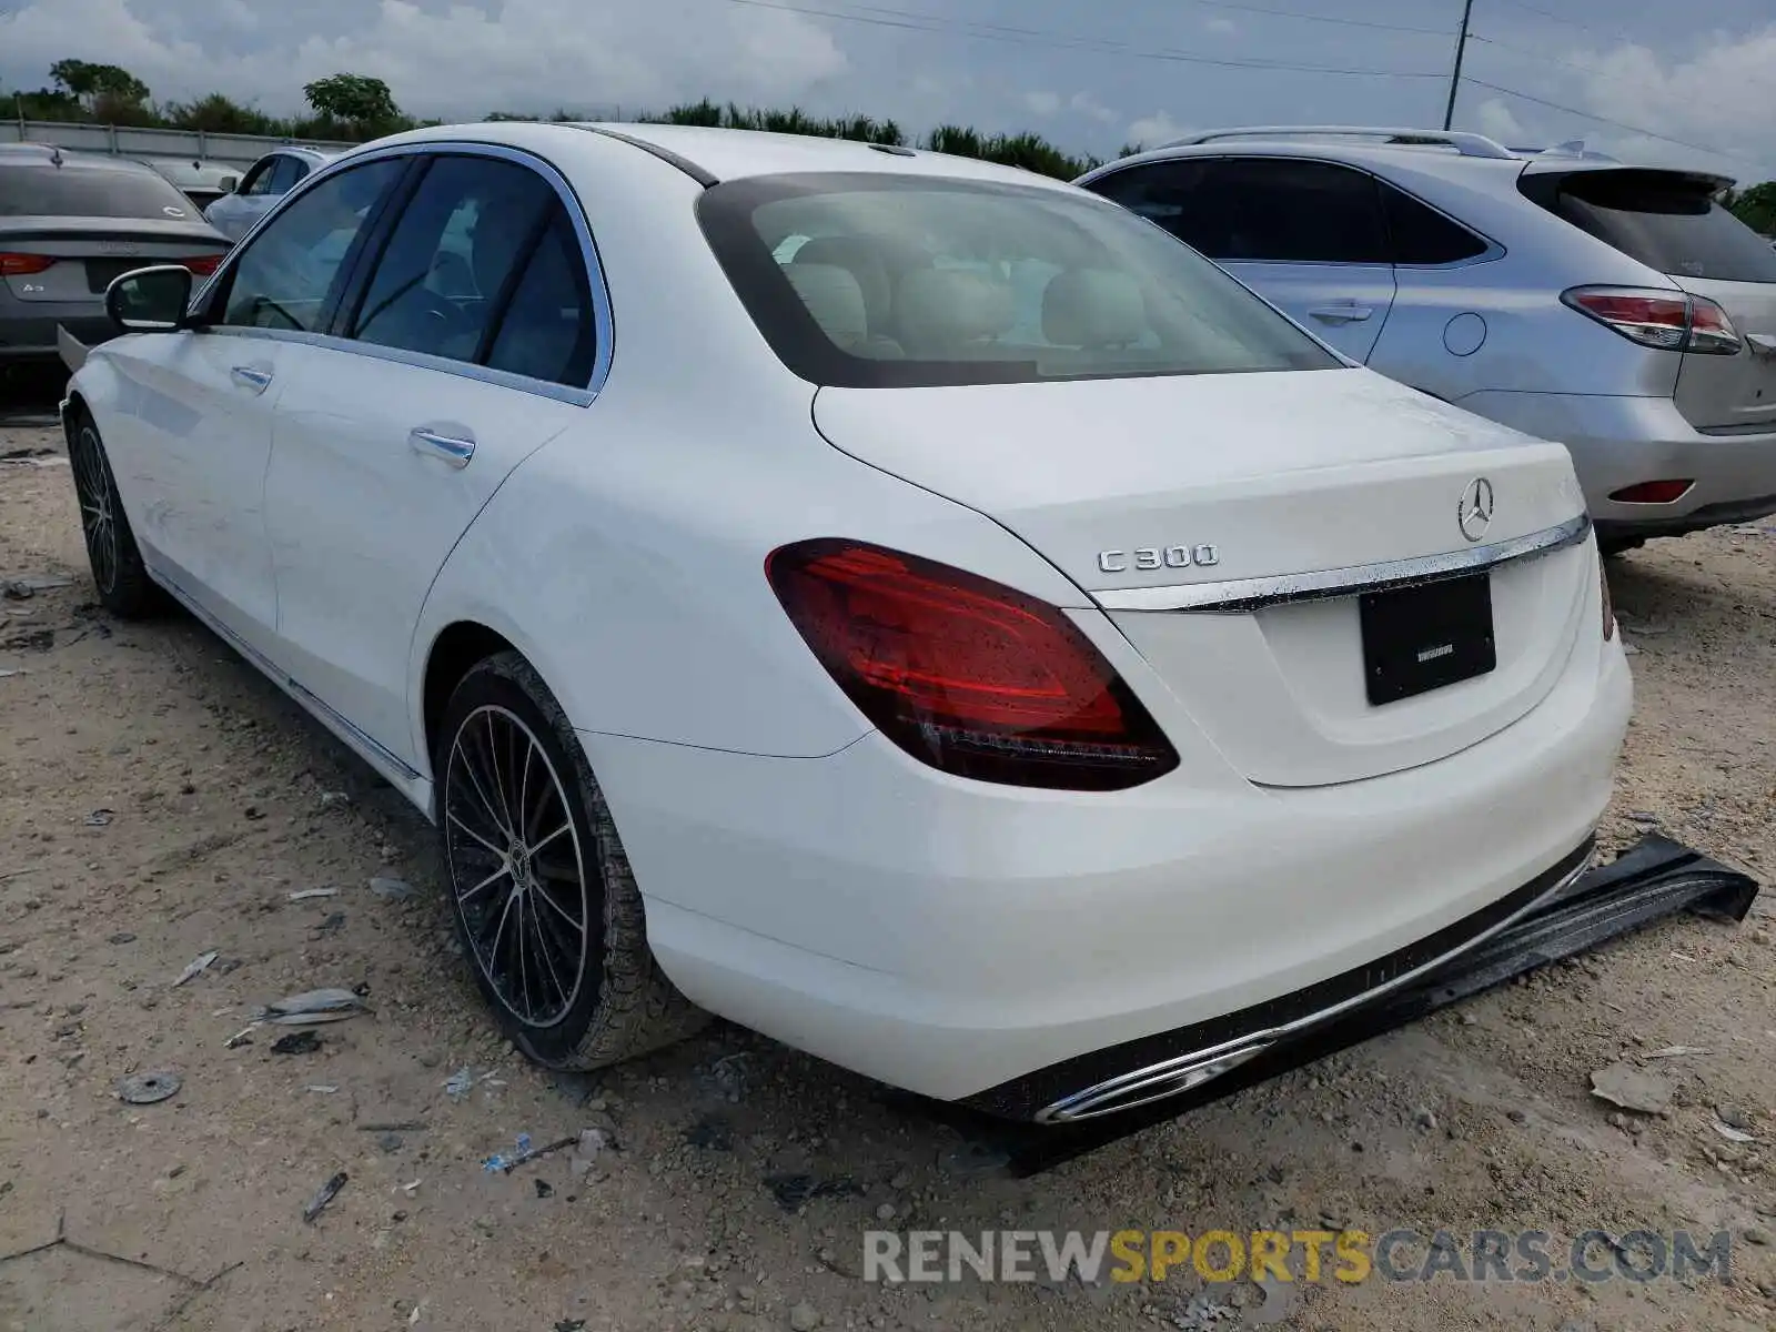
[[[1357,599],[1371,707],[1399,703],[1497,670],[1488,572],[1366,591]]]

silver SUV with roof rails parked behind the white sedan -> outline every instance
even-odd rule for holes
[[[1606,551],[1776,513],[1776,250],[1714,201],[1728,183],[1343,126],[1078,179],[1352,361],[1565,442]]]

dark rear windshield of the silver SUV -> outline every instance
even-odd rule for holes
[[[1561,178],[1554,211],[1661,274],[1776,282],[1776,250],[1721,208],[1714,188],[1661,170],[1574,172]]]

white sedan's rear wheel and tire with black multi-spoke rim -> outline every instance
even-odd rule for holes
[[[654,961],[604,792],[517,652],[456,686],[433,774],[456,936],[519,1050],[547,1067],[593,1069],[709,1021]]]

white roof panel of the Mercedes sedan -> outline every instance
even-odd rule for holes
[[[881,147],[852,139],[785,135],[764,130],[718,130],[702,124],[481,121],[410,130],[391,139],[378,139],[364,147],[373,149],[392,142],[469,140],[547,151],[551,144],[561,144],[586,133],[620,139],[634,144],[638,151],[662,156],[687,174],[696,176],[703,185],[746,176],[854,170],[902,176],[948,176],[1057,190],[1069,188],[1066,181],[1018,167],[1002,167],[979,158],[961,158],[911,147]]]

